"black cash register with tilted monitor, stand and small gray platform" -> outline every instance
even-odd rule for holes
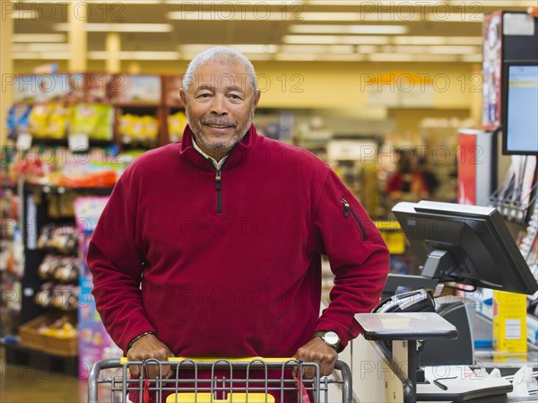
[[[393,377],[401,378],[403,401],[506,399],[511,390],[508,381],[454,379],[440,388],[417,377],[423,364],[473,364],[473,336],[464,302],[436,304],[431,294],[420,288],[451,283],[513,293],[538,291],[538,283],[499,211],[431,201],[401,202],[392,211],[421,261],[421,276],[389,275],[386,299],[377,311],[356,315],[363,337],[377,345],[377,354],[394,370]],[[419,290],[395,294],[400,285]],[[404,374],[395,366],[396,341],[407,348],[404,360],[409,366]]]

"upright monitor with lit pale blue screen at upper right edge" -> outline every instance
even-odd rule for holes
[[[538,154],[538,62],[503,66],[503,153]]]

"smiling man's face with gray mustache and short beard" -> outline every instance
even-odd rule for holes
[[[247,69],[239,63],[207,63],[198,67],[191,80],[188,92],[180,92],[188,125],[196,144],[220,159],[246,135],[259,92],[255,97]]]

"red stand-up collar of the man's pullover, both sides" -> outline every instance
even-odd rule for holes
[[[196,167],[204,171],[213,171],[213,163],[209,163],[204,155],[198,153],[195,149],[193,142],[193,132],[190,127],[185,127],[183,131],[183,137],[181,138],[181,158],[184,158],[186,161],[195,164]],[[238,165],[241,162],[246,161],[247,153],[252,148],[256,141],[258,140],[258,134],[256,133],[256,127],[251,125],[248,129],[247,135],[231,150],[227,156],[227,161],[224,164],[225,169],[229,170],[234,166]],[[205,160],[205,161],[204,161]]]

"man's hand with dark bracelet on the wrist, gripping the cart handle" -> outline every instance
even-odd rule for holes
[[[145,335],[140,337],[133,343],[133,346],[127,351],[127,359],[129,361],[143,361],[150,358],[154,358],[159,361],[167,361],[169,357],[174,355],[169,350],[169,347],[161,343],[159,339],[152,334]],[[158,365],[147,365],[147,373],[144,374],[144,378],[156,378],[159,374]],[[169,378],[170,376],[170,366],[162,365],[161,366],[161,377]],[[129,372],[134,378],[140,377],[140,367],[131,366],[129,367]]]

